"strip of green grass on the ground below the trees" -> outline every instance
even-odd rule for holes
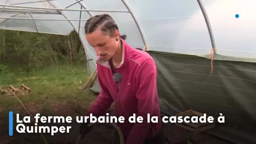
[[[5,75],[0,75],[0,86],[8,88],[8,85],[13,85],[20,88],[20,85],[24,84],[31,88],[31,93],[19,95],[19,99],[24,104],[36,103],[47,107],[48,104],[58,101],[94,101],[96,96],[93,92],[79,89],[87,79],[85,66],[66,64],[28,73],[8,68],[5,69]],[[21,107],[21,104],[13,96],[0,95],[0,111],[15,111],[18,107]]]

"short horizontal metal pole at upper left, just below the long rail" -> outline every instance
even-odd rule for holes
[[[0,10],[2,13],[30,13],[30,14],[60,14],[59,12],[56,11],[31,11],[31,10]]]

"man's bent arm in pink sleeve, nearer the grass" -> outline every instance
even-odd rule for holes
[[[109,109],[113,102],[113,99],[109,94],[109,91],[107,90],[106,86],[102,83],[102,79],[104,77],[102,77],[100,73],[97,73],[97,77],[99,85],[101,87],[101,92],[99,93],[96,101],[91,105],[91,108],[88,110],[88,112],[86,112],[85,116],[90,116],[90,114],[96,117],[102,116],[107,111],[107,109]]]

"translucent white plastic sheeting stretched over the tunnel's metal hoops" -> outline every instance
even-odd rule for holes
[[[1,4],[28,7],[67,8],[88,10],[128,11],[122,0],[0,0]],[[256,0],[202,0],[208,15],[216,44],[215,59],[256,62]],[[29,3],[35,2],[35,3]],[[79,2],[79,3],[78,3]],[[126,0],[138,19],[145,35],[147,50],[190,54],[208,57],[211,40],[203,13],[197,0]],[[24,4],[20,4],[24,3]],[[75,3],[75,4],[74,4]],[[72,6],[70,6],[72,5]],[[0,7],[0,17],[55,19],[22,20],[0,19],[0,29],[43,32],[68,35],[72,29],[78,30],[80,39],[90,56],[96,61],[96,53],[85,39],[85,20],[101,13],[110,14],[118,24],[121,34],[126,34],[127,42],[135,48],[143,48],[141,33],[131,13],[52,11],[33,9],[42,13],[10,13],[10,10],[25,12],[24,8]],[[27,11],[27,9],[26,9]],[[235,15],[240,17],[236,18]],[[60,19],[60,20],[56,20]],[[70,21],[64,21],[70,19]],[[80,24],[79,24],[80,23]],[[80,25],[80,28],[79,28]]]

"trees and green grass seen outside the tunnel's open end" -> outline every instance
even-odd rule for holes
[[[0,86],[31,88],[29,95],[19,96],[24,104],[93,101],[91,92],[79,90],[88,78],[85,61],[76,32],[63,36],[0,30]],[[13,96],[0,94],[0,114],[20,106]]]

